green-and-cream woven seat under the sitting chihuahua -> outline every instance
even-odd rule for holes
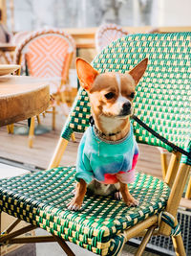
[[[86,195],[82,209],[73,212],[66,204],[74,197],[74,174],[74,166],[58,167],[1,179],[1,210],[96,254],[116,255],[125,243],[122,231],[158,214],[170,193],[159,178],[137,173],[129,189],[138,207],[113,196]]]

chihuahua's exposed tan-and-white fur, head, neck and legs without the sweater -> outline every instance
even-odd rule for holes
[[[104,139],[117,141],[129,133],[136,86],[146,70],[147,62],[148,58],[143,59],[127,74],[115,72],[99,74],[84,59],[76,59],[80,85],[88,92],[95,126],[102,134],[105,134]],[[123,198],[126,205],[138,205],[138,200],[129,193],[127,184],[120,181],[117,184],[105,185],[94,180],[89,188],[96,195],[105,196],[117,191],[117,198]],[[87,184],[80,179],[68,208],[80,209],[86,191]]]

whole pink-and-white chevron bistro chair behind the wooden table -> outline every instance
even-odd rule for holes
[[[21,36],[23,34],[17,35],[16,40]],[[64,92],[70,90],[69,69],[74,53],[73,37],[57,29],[38,30],[24,36],[15,50],[14,62],[25,67],[26,75],[39,78],[50,84],[50,93],[54,99],[51,105],[53,111],[48,110],[47,112],[53,113],[53,129],[55,129],[56,105],[61,105],[63,111],[68,113]],[[30,128],[29,146],[31,148],[33,133],[34,117]]]

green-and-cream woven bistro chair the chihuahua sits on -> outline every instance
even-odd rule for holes
[[[149,58],[148,67],[137,86],[135,115],[181,149],[191,151],[190,134],[190,43],[191,33],[165,35],[128,35],[105,48],[93,61],[99,72],[125,73],[141,59]],[[129,185],[138,198],[138,207],[127,207],[112,196],[86,195],[82,210],[67,209],[74,197],[75,167],[59,167],[73,132],[89,126],[88,95],[79,89],[48,171],[0,180],[1,210],[29,222],[25,229],[5,230],[0,243],[56,241],[68,255],[74,255],[71,242],[99,255],[119,255],[131,238],[142,236],[137,255],[141,255],[152,235],[172,236],[177,255],[185,255],[177,210],[189,175],[191,159],[173,151],[132,120],[138,143],[172,151],[165,180],[138,170]],[[51,236],[16,238],[41,227]]]

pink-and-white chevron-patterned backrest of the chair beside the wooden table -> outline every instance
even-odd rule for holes
[[[27,60],[28,72],[33,77],[68,80],[69,67],[75,52],[71,35],[56,29],[35,31],[26,36],[15,50],[15,63]],[[56,82],[56,81],[55,81]]]

